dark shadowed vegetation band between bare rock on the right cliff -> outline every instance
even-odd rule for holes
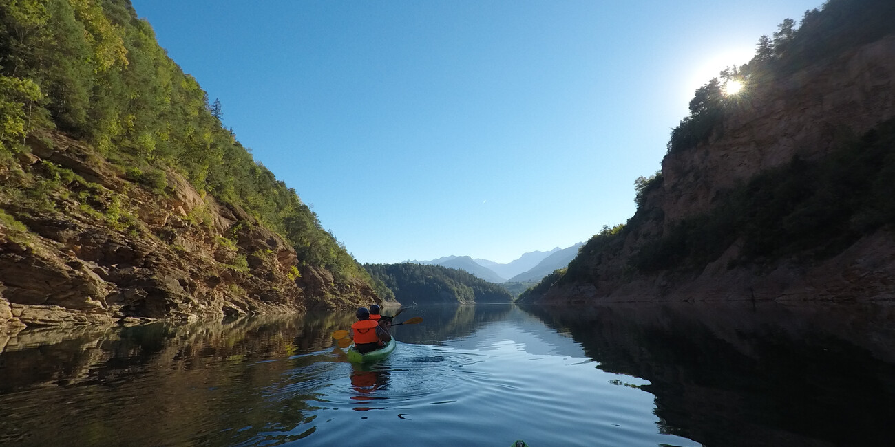
[[[799,254],[823,259],[895,223],[895,120],[843,143],[822,161],[794,158],[720,194],[704,215],[687,218],[634,257],[641,271],[701,269],[737,239],[732,263]]]

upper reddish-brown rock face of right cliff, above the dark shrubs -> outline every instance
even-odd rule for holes
[[[705,212],[720,191],[793,156],[829,154],[839,139],[895,116],[895,36],[755,86],[708,143],[665,156],[666,227]]]

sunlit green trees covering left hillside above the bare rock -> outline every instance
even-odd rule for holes
[[[0,0],[0,61],[4,147],[56,127],[113,163],[138,166],[129,176],[157,193],[166,171],[183,173],[283,234],[303,264],[327,268],[339,283],[370,280],[295,191],[222,127],[219,102],[209,106],[127,0]]]

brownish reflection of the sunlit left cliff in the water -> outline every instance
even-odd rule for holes
[[[0,444],[240,443],[260,427],[299,426],[314,398],[303,384],[341,359],[327,349],[351,324],[345,314],[8,334]],[[247,425],[259,428],[240,433]]]

